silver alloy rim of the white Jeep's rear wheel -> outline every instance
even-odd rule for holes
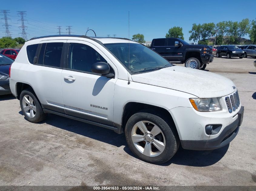
[[[25,112],[25,114],[30,117],[34,118],[36,114],[36,106],[33,98],[29,95],[23,96],[22,99],[22,107]]]

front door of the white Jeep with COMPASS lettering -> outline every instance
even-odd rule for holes
[[[117,69],[95,45],[68,40],[68,58],[62,71],[62,97],[67,115],[113,126],[113,98]],[[110,65],[114,78],[91,72],[95,62]]]

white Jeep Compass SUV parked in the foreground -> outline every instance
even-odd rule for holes
[[[138,158],[158,164],[180,144],[227,145],[244,111],[228,78],[172,65],[123,38],[32,38],[10,68],[10,88],[28,121],[53,113],[124,132]]]

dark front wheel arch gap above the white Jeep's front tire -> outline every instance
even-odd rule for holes
[[[128,102],[125,104],[124,109],[123,109],[123,114],[122,114],[122,121],[121,121],[121,124],[122,124],[121,127],[122,127],[123,132],[125,132],[125,126],[126,126],[128,119],[133,114],[138,113],[139,111],[145,110],[145,109],[150,109],[154,112],[157,112],[160,116],[164,116],[166,119],[168,119],[168,123],[170,123],[170,125],[174,127],[177,135],[179,136],[177,127],[173,120],[173,117],[171,116],[171,113],[168,112],[168,110],[166,110],[163,107],[154,106],[154,105],[150,105],[150,104],[146,104],[146,103],[140,103],[140,102]]]

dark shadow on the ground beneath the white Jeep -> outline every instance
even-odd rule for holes
[[[19,112],[21,115],[22,111]],[[25,118],[25,117],[24,117]],[[130,156],[137,158],[129,149],[124,134],[117,134],[112,130],[102,127],[90,125],[66,117],[58,116],[55,114],[48,114],[47,118],[41,122],[48,125],[70,131],[88,138],[95,139],[116,147],[124,147],[124,151]],[[192,151],[181,148],[181,145],[171,160],[167,161],[161,166],[169,166],[170,164],[178,164],[194,167],[205,167],[217,163],[228,151],[229,144],[210,151]]]

